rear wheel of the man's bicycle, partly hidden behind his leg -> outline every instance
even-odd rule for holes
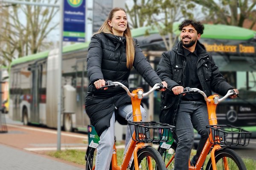
[[[172,159],[172,156],[174,156],[174,154],[176,152],[176,148],[177,148],[177,145],[174,142],[172,143],[172,146],[170,147],[170,149],[165,149],[165,148],[162,148],[160,146],[158,147],[157,151],[162,156],[165,165],[167,165],[169,163],[169,161]],[[170,164],[166,168],[168,170],[174,170],[174,162],[175,162],[175,158],[172,159],[172,161],[170,162]]]

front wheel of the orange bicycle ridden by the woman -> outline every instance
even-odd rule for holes
[[[138,150],[138,163],[140,170],[148,170],[148,157],[151,158],[152,166],[154,170],[166,170],[162,156],[156,149],[151,146],[146,146]],[[131,169],[135,170],[134,161],[131,164]]]

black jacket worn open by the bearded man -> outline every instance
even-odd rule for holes
[[[199,56],[196,67],[198,78],[202,86],[201,90],[203,90],[207,96],[212,94],[211,91],[225,95],[227,91],[233,89],[233,87],[222,77],[212,56],[206,52],[204,45],[198,41],[196,48]],[[184,87],[184,80],[186,79],[185,68],[186,57],[183,56],[183,46],[181,42],[179,42],[171,51],[166,51],[162,54],[162,58],[157,67],[157,74],[163,81],[167,82],[169,89],[178,85]],[[175,125],[175,116],[179,108],[181,97],[182,95],[174,95],[169,91],[162,92],[160,122]]]

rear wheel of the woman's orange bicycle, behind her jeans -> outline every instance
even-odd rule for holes
[[[95,165],[96,160],[96,152],[97,150],[93,147],[87,147],[87,151],[85,154],[85,169],[86,170],[92,170]],[[112,166],[110,163],[109,170],[112,170]]]

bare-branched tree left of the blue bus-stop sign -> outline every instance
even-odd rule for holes
[[[38,0],[37,2],[56,4],[58,0]],[[50,45],[46,39],[49,32],[59,24],[51,22],[58,13],[58,8],[7,5],[2,4],[1,10],[3,23],[0,29],[2,44],[0,56],[3,56],[3,59],[11,62],[15,57],[36,54]]]

